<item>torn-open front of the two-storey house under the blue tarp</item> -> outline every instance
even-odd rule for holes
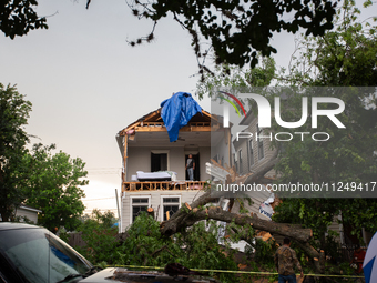
[[[201,110],[171,142],[162,111],[160,108],[141,117],[116,135],[123,168],[121,232],[149,208],[157,221],[166,220],[182,203],[197,199],[211,180],[205,164],[211,160],[211,129],[216,127],[216,118]],[[221,159],[230,163],[228,130],[218,135],[217,144],[227,148]],[[185,170],[188,154],[195,161],[193,181],[188,181]]]

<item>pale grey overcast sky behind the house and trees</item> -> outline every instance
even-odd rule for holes
[[[172,19],[157,24],[155,40],[132,48],[151,22],[131,14],[124,0],[41,0],[48,30],[14,40],[0,34],[0,82],[17,84],[32,102],[26,131],[31,143],[55,143],[82,159],[89,172],[85,213],[98,208],[116,214],[121,153],[115,134],[160,107],[173,92],[195,97],[197,62],[190,34]],[[287,67],[294,37],[275,34],[277,65]],[[210,99],[198,101],[207,111]]]

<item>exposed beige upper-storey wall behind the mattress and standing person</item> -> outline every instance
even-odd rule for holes
[[[161,146],[130,146],[128,158],[126,181],[137,171],[151,172],[151,152],[153,150],[169,152],[169,170],[176,172],[176,180],[185,180],[185,151],[184,148],[161,148]],[[211,148],[200,148],[201,180],[206,181],[210,175],[205,172],[205,162],[210,161]]]

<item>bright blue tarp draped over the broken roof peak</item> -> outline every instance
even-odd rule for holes
[[[161,118],[166,127],[170,142],[179,139],[180,129],[185,127],[191,118],[202,108],[187,92],[176,92],[170,99],[161,102]]]

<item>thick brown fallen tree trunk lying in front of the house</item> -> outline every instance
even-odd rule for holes
[[[258,172],[247,176],[238,176],[233,183],[264,183],[265,174],[275,166],[277,161],[278,158],[276,153],[264,166],[261,168]],[[184,231],[188,226],[194,225],[198,221],[207,219],[223,221],[226,223],[235,223],[242,226],[243,232],[247,231],[249,228],[253,228],[254,230],[266,231],[272,234],[279,234],[291,237],[308,255],[308,257],[313,259],[316,271],[319,273],[324,273],[325,253],[324,251],[318,252],[309,244],[309,240],[313,237],[313,231],[310,229],[304,229],[286,223],[275,223],[272,221],[259,219],[256,214],[247,215],[232,213],[230,211],[223,210],[220,206],[205,206],[208,203],[214,203],[217,198],[218,195],[214,198],[214,195],[212,195],[211,193],[211,190],[207,190],[203,195],[197,198],[197,200],[195,200],[191,204],[185,203],[185,205],[183,205],[180,211],[174,213],[170,220],[163,221],[160,224],[160,232],[163,235],[171,236],[175,233]],[[243,240],[253,245],[253,239],[246,236]]]

